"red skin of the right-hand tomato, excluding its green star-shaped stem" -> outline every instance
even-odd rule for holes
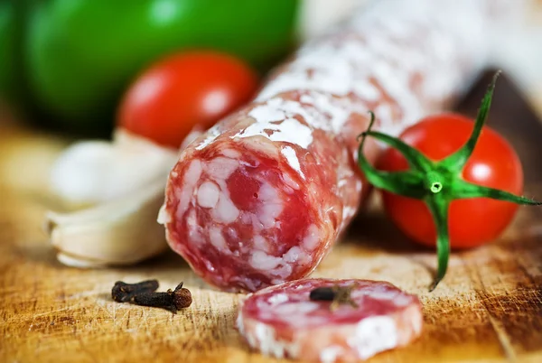
[[[407,128],[399,138],[429,159],[438,161],[463,146],[473,126],[472,120],[464,116],[430,116]],[[389,148],[378,160],[377,168],[403,171],[408,169],[408,164],[396,149]],[[504,138],[486,126],[463,169],[463,179],[517,195],[523,189],[523,170],[518,155]],[[398,228],[417,242],[435,246],[435,223],[422,200],[388,191],[382,191],[382,195],[384,208]],[[517,209],[517,204],[502,200],[453,200],[448,218],[451,247],[475,247],[498,237]]]

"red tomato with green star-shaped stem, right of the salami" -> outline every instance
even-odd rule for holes
[[[361,134],[360,169],[383,191],[390,218],[406,235],[436,246],[438,267],[431,291],[446,275],[451,247],[488,242],[509,225],[518,205],[542,205],[519,196],[523,171],[518,155],[484,127],[499,75],[481,101],[476,122],[453,114],[430,116],[396,138],[372,131],[371,113],[369,128]],[[377,168],[363,154],[368,136],[392,147]]]

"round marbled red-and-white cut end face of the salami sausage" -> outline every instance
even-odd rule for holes
[[[187,150],[170,175],[160,218],[171,247],[198,275],[235,292],[308,275],[343,219],[329,191],[335,172],[323,173],[314,153],[296,144],[233,134],[248,127]]]

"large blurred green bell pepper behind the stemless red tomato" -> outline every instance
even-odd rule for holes
[[[110,128],[129,82],[166,53],[210,48],[266,70],[294,44],[297,7],[297,0],[44,1],[25,48],[34,96],[66,126]]]

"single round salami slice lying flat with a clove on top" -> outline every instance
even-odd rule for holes
[[[311,299],[317,288],[343,289],[350,300],[332,309],[333,302]],[[240,303],[237,320],[250,347],[263,354],[326,363],[406,346],[421,334],[422,324],[415,295],[385,282],[331,279],[298,280],[250,294]]]

